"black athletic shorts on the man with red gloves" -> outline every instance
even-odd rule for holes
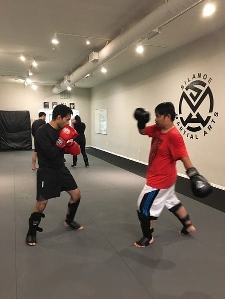
[[[76,182],[65,166],[53,170],[37,169],[36,200],[38,201],[59,197],[61,191],[69,191],[76,188]]]

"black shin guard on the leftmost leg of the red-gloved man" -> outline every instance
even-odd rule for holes
[[[30,215],[28,220],[29,229],[26,234],[26,243],[36,243],[36,231],[42,232],[43,229],[38,227],[41,218],[44,218],[44,214],[41,212],[34,212]]]

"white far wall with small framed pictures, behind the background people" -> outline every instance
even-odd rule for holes
[[[79,110],[81,120],[86,124],[86,144],[90,145],[90,90],[88,88],[74,88],[71,90],[72,99],[61,99],[59,94],[52,94],[52,86],[38,86],[32,90],[30,86],[22,84],[0,84],[0,110],[28,110],[31,121],[38,118],[38,109],[43,108],[43,102],[75,103],[75,110]]]

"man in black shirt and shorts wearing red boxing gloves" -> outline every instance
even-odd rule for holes
[[[36,205],[30,215],[26,244],[36,245],[36,231],[48,199],[59,197],[60,192],[70,195],[64,226],[74,230],[83,227],[73,221],[80,202],[80,191],[72,175],[63,163],[63,154],[77,155],[80,148],[76,142],[68,142],[77,132],[67,123],[72,111],[65,105],[57,105],[52,111],[52,120],[39,127],[35,133],[34,143],[37,151],[39,168],[36,174]]]

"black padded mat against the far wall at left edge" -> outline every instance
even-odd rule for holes
[[[0,150],[32,148],[29,111],[0,110]]]

